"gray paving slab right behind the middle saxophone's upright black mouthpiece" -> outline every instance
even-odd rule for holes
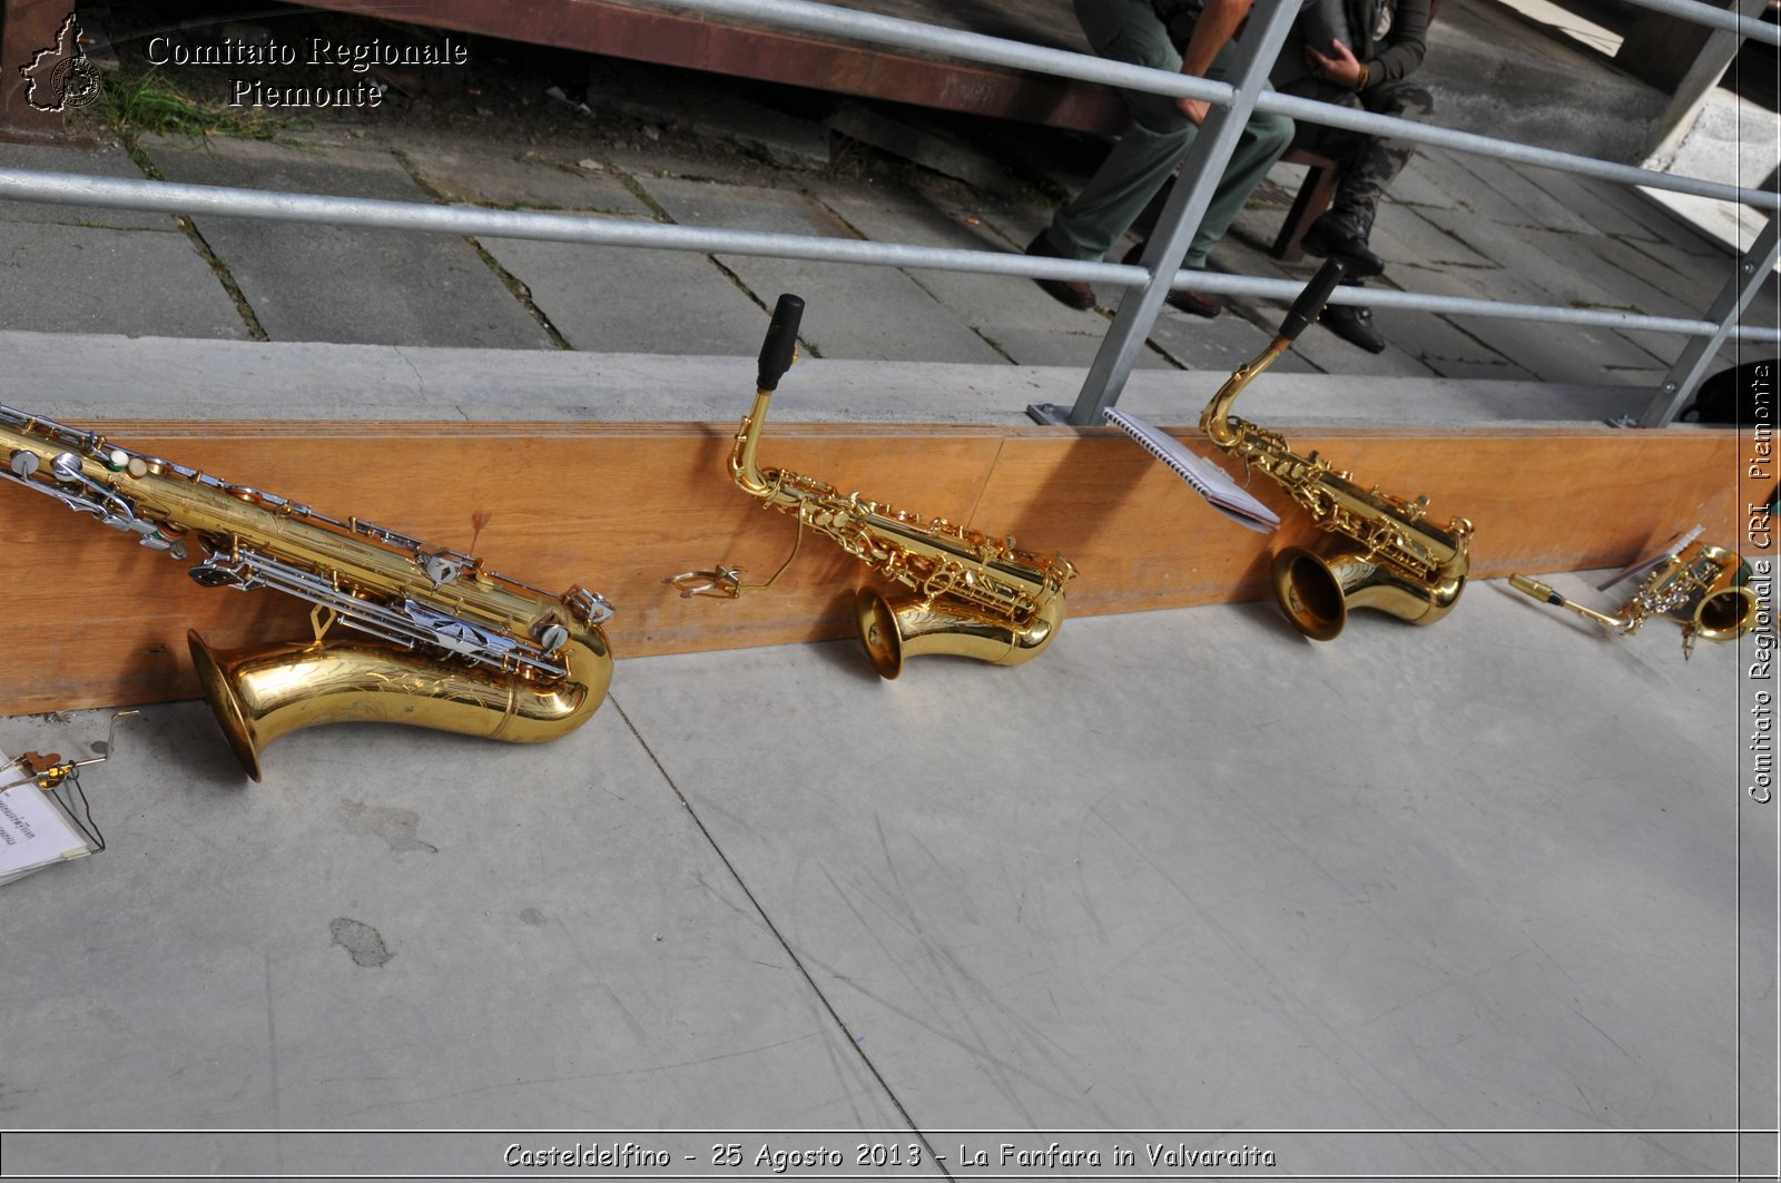
[[[739,189],[677,178],[645,182],[650,196],[684,226],[727,226],[855,239],[821,205],[794,192]],[[915,362],[1004,358],[894,267],[720,257],[766,306],[780,292],[805,298],[803,339],[819,356]]]

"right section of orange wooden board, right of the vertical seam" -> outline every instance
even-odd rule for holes
[[[1197,429],[1172,435],[1216,456]],[[1480,579],[1619,567],[1696,522],[1724,538],[1740,524],[1729,431],[1284,435],[1293,451],[1323,453],[1361,485],[1427,495],[1439,526],[1471,518]],[[1044,533],[1045,549],[1094,572],[1072,590],[1072,615],[1266,599],[1275,551],[1329,543],[1266,477],[1250,492],[1281,515],[1272,538],[1231,524],[1140,449],[1108,442],[1117,440],[1010,440],[983,495],[1012,510],[1008,529],[1026,542]]]

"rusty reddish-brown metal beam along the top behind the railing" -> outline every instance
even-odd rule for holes
[[[12,4],[28,0],[9,0]],[[312,0],[313,7],[1022,123],[1118,132],[1111,91],[606,0]]]

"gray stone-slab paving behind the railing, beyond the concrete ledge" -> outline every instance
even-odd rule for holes
[[[1541,36],[1516,18],[1482,0],[1448,7],[1432,62],[1443,52],[1471,61],[1460,48],[1480,45],[1505,62],[1539,57]],[[1569,62],[1565,55],[1574,53],[1551,48],[1553,62]],[[0,162],[110,175],[139,175],[141,166],[173,180],[990,251],[1017,249],[1049,216],[1031,189],[972,189],[919,169],[860,167],[857,160],[826,173],[762,166],[736,144],[762,151],[753,125],[784,128],[787,116],[768,118],[737,102],[727,135],[725,103],[705,86],[698,91],[703,109],[680,118],[689,128],[682,132],[673,130],[675,102],[689,100],[673,87],[652,89],[648,71],[613,71],[609,86],[607,98],[627,116],[602,109],[581,119],[547,107],[525,116],[524,135],[499,121],[486,135],[476,125],[443,132],[321,121],[287,130],[278,143],[150,139],[135,162],[118,151],[0,144]],[[1450,121],[1478,123],[1466,102],[1455,96],[1455,103]],[[654,135],[638,134],[652,114],[659,119],[641,130]],[[947,148],[956,151],[953,141]],[[985,167],[996,164],[990,151]],[[1215,251],[1216,269],[1309,274],[1309,265],[1282,267],[1259,249],[1300,176],[1291,166],[1277,167]],[[1060,176],[1065,187],[1074,180]],[[812,308],[832,310],[821,319],[823,335],[805,340],[812,356],[1086,367],[1110,322],[1108,310],[1065,310],[1024,280],[956,273],[468,242],[208,216],[183,230],[164,216],[0,208],[0,258],[20,274],[59,276],[48,289],[14,283],[0,290],[0,331],[723,356],[752,353],[759,310],[780,290],[800,290]],[[1382,208],[1375,246],[1387,260],[1387,274],[1373,281],[1378,287],[1671,317],[1699,317],[1731,267],[1724,246],[1642,194],[1427,148]],[[1104,296],[1117,299],[1117,292]],[[1770,280],[1747,322],[1774,326],[1777,303]],[[1243,299],[1218,321],[1165,310],[1138,365],[1229,371],[1261,347],[1277,315],[1272,305]],[[1485,392],[1492,383],[1526,381],[1649,388],[1685,344],[1642,330],[1409,310],[1380,310],[1377,324],[1389,342],[1380,356],[1314,328],[1281,371],[1444,378],[1482,383]],[[1735,346],[1720,351],[1722,363],[1736,356]],[[1578,417],[1590,417],[1596,401],[1580,404]]]

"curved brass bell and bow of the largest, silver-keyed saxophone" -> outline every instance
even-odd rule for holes
[[[568,677],[536,686],[516,673],[447,666],[370,640],[212,649],[185,634],[205,702],[255,780],[260,752],[322,723],[410,723],[506,743],[541,743],[579,727],[606,698],[604,634],[563,649]]]

